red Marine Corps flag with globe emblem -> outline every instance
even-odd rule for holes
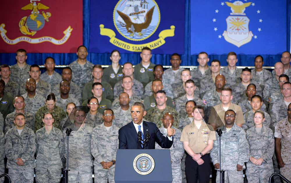
[[[0,52],[73,53],[83,43],[82,0],[9,0],[0,6]]]

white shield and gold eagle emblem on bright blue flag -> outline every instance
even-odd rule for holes
[[[246,10],[246,7],[251,5],[251,2],[226,2],[226,5],[231,8],[232,12],[230,15],[235,16],[228,16],[226,18],[227,30],[224,31],[222,35],[227,42],[240,47],[250,42],[253,37],[252,31],[249,31],[250,19],[247,16],[242,16],[246,15],[244,11]]]

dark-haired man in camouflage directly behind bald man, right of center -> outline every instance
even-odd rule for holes
[[[210,64],[211,75],[206,76],[203,80],[200,80],[200,96],[204,96],[205,92],[215,88],[215,78],[220,73],[220,61],[212,60]]]

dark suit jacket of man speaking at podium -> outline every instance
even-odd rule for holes
[[[168,137],[165,137],[157,128],[155,123],[143,121],[143,138],[147,132],[150,133],[150,141],[145,144],[143,149],[155,149],[155,142],[162,148],[171,148],[173,141],[170,141]],[[137,141],[137,133],[132,121],[123,126],[118,131],[119,149],[142,149],[141,143]]]

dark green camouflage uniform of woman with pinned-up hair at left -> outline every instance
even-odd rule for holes
[[[42,122],[42,118],[46,112],[49,112],[49,110],[47,109],[47,106],[45,105],[43,107],[40,107],[38,111],[36,112],[36,114],[34,115],[34,117],[36,118],[36,123],[35,123],[35,128],[34,128],[35,131],[45,126],[45,124]],[[53,126],[58,129],[61,129],[60,123],[61,123],[61,120],[67,116],[66,112],[61,107],[55,106],[51,114],[54,116]]]

